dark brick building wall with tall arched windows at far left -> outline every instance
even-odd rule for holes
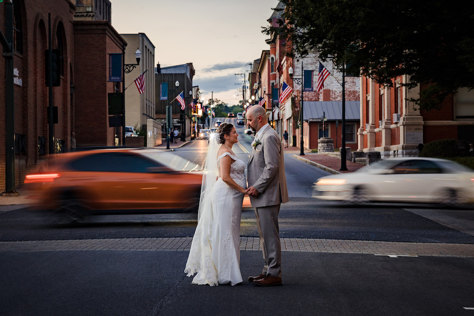
[[[58,124],[54,125],[54,138],[69,137],[69,65],[72,60],[72,35],[74,6],[65,0],[18,1],[22,15],[23,51],[14,53],[14,68],[22,86],[14,86],[15,133],[26,136],[25,153],[15,155],[16,185],[23,182],[22,176],[28,169],[42,164],[45,156],[38,155],[38,137],[46,139],[48,149],[48,126],[46,108],[48,90],[45,87],[44,50],[47,48],[48,13],[51,13],[51,33],[53,48],[56,31],[63,30],[64,76],[61,86],[53,87],[53,105],[58,107]],[[5,34],[5,2],[0,6],[0,25]],[[3,59],[5,60],[5,59]],[[0,74],[5,74],[5,62],[0,62]],[[0,96],[5,98],[5,75],[0,76]],[[5,99],[4,99],[5,100]],[[0,117],[5,119],[5,106],[0,106]],[[4,124],[1,124],[4,126]],[[5,129],[0,129],[0,148],[5,148]],[[0,150],[0,191],[5,189],[5,151]]]

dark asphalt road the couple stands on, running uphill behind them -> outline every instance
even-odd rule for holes
[[[251,137],[241,134],[239,139],[242,147],[234,145],[234,151],[245,161]],[[196,141],[175,153],[202,163],[205,147],[205,141]],[[377,241],[382,247],[406,242],[427,249],[438,244],[445,248],[474,244],[471,209],[392,204],[350,207],[320,202],[311,198],[311,185],[326,172],[290,154],[285,155],[285,169],[290,202],[280,211],[281,238]],[[0,207],[0,249],[3,245],[17,249],[0,251],[0,314],[474,313],[472,251],[455,257],[437,250],[428,255],[389,257],[376,256],[383,248],[367,254],[294,248],[282,254],[284,285],[260,288],[247,281],[234,287],[193,285],[183,272],[187,250],[143,250],[137,246],[146,242],[145,238],[191,237],[195,226],[196,214],[98,216],[79,225],[51,226],[30,208]],[[258,236],[251,210],[243,213],[241,235]],[[132,244],[115,250],[89,246],[107,238]],[[55,248],[57,242],[72,239],[82,246]],[[49,248],[35,248],[37,240]],[[15,248],[25,241],[33,242],[33,250]],[[260,251],[241,251],[244,279],[259,274],[262,265]]]

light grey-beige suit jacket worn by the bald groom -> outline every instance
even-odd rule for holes
[[[283,147],[278,134],[271,127],[260,136],[261,144],[252,149],[247,164],[247,180],[259,195],[250,197],[253,207],[278,205],[288,202]]]

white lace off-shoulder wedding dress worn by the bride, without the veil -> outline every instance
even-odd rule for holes
[[[225,156],[234,160],[230,165],[230,177],[245,187],[245,163],[225,152],[217,157],[218,166]],[[240,223],[244,195],[219,177],[211,187],[208,198],[210,210],[200,214],[185,272],[189,277],[197,273],[194,284],[241,283]]]

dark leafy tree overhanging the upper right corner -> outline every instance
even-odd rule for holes
[[[304,56],[318,51],[347,71],[380,84],[409,75],[412,88],[424,84],[420,108],[440,108],[458,88],[474,88],[474,12],[453,0],[282,0],[280,32]]]

